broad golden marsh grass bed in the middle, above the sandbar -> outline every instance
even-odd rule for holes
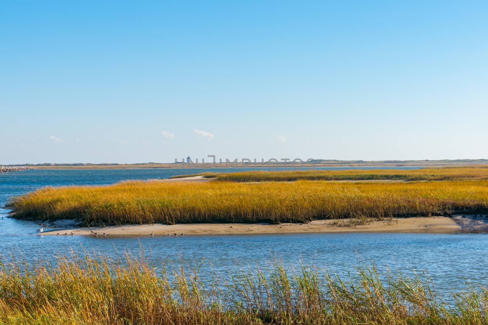
[[[304,222],[488,209],[488,181],[412,183],[161,182],[42,188],[9,203],[18,217],[85,225]]]

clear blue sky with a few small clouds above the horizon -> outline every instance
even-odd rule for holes
[[[3,1],[0,164],[488,158],[487,1]]]

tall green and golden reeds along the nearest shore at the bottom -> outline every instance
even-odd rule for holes
[[[147,260],[60,256],[56,265],[0,262],[1,324],[487,324],[486,288],[453,293],[447,306],[427,273],[380,276],[372,266],[347,280],[313,267],[201,276]]]

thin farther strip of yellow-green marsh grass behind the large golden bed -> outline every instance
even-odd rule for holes
[[[172,178],[203,175],[227,182],[284,182],[297,180],[361,181],[361,180],[403,180],[403,181],[461,181],[488,180],[488,166],[423,168],[418,170],[340,170],[340,171],[250,171],[229,173],[200,173],[178,175]]]

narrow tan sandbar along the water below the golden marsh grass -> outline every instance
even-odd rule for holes
[[[347,232],[347,231],[386,231],[386,232],[445,232],[456,230],[488,229],[486,215],[455,215],[452,218],[409,217],[375,220],[367,224],[357,224],[358,220],[315,220],[304,224],[178,224],[178,225],[126,225],[112,227],[67,228],[45,231],[45,235],[209,235],[209,234],[260,234],[260,233],[301,233],[301,232]],[[63,224],[60,224],[60,226]]]

